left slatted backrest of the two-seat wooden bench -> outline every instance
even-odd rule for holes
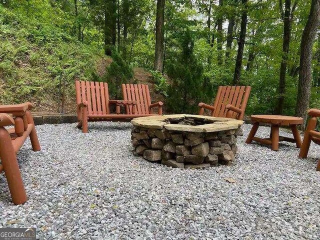
[[[75,81],[76,103],[88,103],[88,114],[110,114],[108,85],[97,81]],[[80,112],[78,109],[78,118]]]

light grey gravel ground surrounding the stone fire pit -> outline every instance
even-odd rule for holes
[[[0,227],[36,227],[40,239],[319,239],[320,146],[299,159],[292,143],[245,144],[250,127],[236,165],[181,170],[134,156],[130,123],[36,126],[41,151],[18,153],[25,204],[0,175]]]

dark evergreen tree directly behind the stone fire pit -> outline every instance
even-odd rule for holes
[[[189,29],[180,38],[180,44],[182,52],[177,60],[167,64],[167,75],[171,80],[167,105],[172,112],[195,113],[203,95],[203,67],[193,53],[194,42]]]

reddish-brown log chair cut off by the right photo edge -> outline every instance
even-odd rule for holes
[[[306,157],[309,151],[309,147],[311,144],[311,140],[320,145],[320,132],[315,131],[317,117],[320,117],[320,109],[310,109],[308,110],[308,115],[311,116],[311,118],[308,121],[306,130],[304,132],[303,142],[300,149],[299,157]],[[318,161],[317,171],[320,171],[320,160]]]

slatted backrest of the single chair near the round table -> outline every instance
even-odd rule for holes
[[[232,113],[232,118],[242,119],[249,98],[250,86],[219,86],[213,103],[214,111],[211,116],[225,117],[227,109],[225,106],[231,104],[242,109],[242,113]]]

